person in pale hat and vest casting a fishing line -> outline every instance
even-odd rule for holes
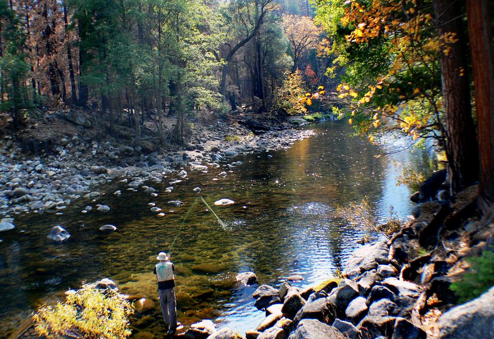
[[[160,252],[156,257],[160,260],[154,266],[154,274],[158,279],[158,292],[160,293],[160,304],[165,318],[167,334],[173,334],[177,330],[177,300],[175,299],[175,280],[173,271],[175,266],[170,262],[170,255]]]

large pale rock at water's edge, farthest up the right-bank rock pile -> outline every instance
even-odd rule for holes
[[[356,278],[363,271],[372,270],[380,263],[388,263],[388,253],[389,249],[381,241],[362,246],[350,255],[345,273],[350,279]]]

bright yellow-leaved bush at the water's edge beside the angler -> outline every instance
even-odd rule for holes
[[[82,285],[63,303],[41,307],[33,321],[42,336],[126,338],[131,334],[127,317],[132,313],[129,302],[117,292]]]

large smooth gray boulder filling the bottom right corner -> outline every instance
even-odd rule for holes
[[[470,302],[453,307],[437,322],[439,338],[494,338],[494,287]]]

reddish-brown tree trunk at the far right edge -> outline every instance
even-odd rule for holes
[[[489,1],[467,0],[475,108],[479,125],[479,205],[484,214],[494,205],[494,52]]]

